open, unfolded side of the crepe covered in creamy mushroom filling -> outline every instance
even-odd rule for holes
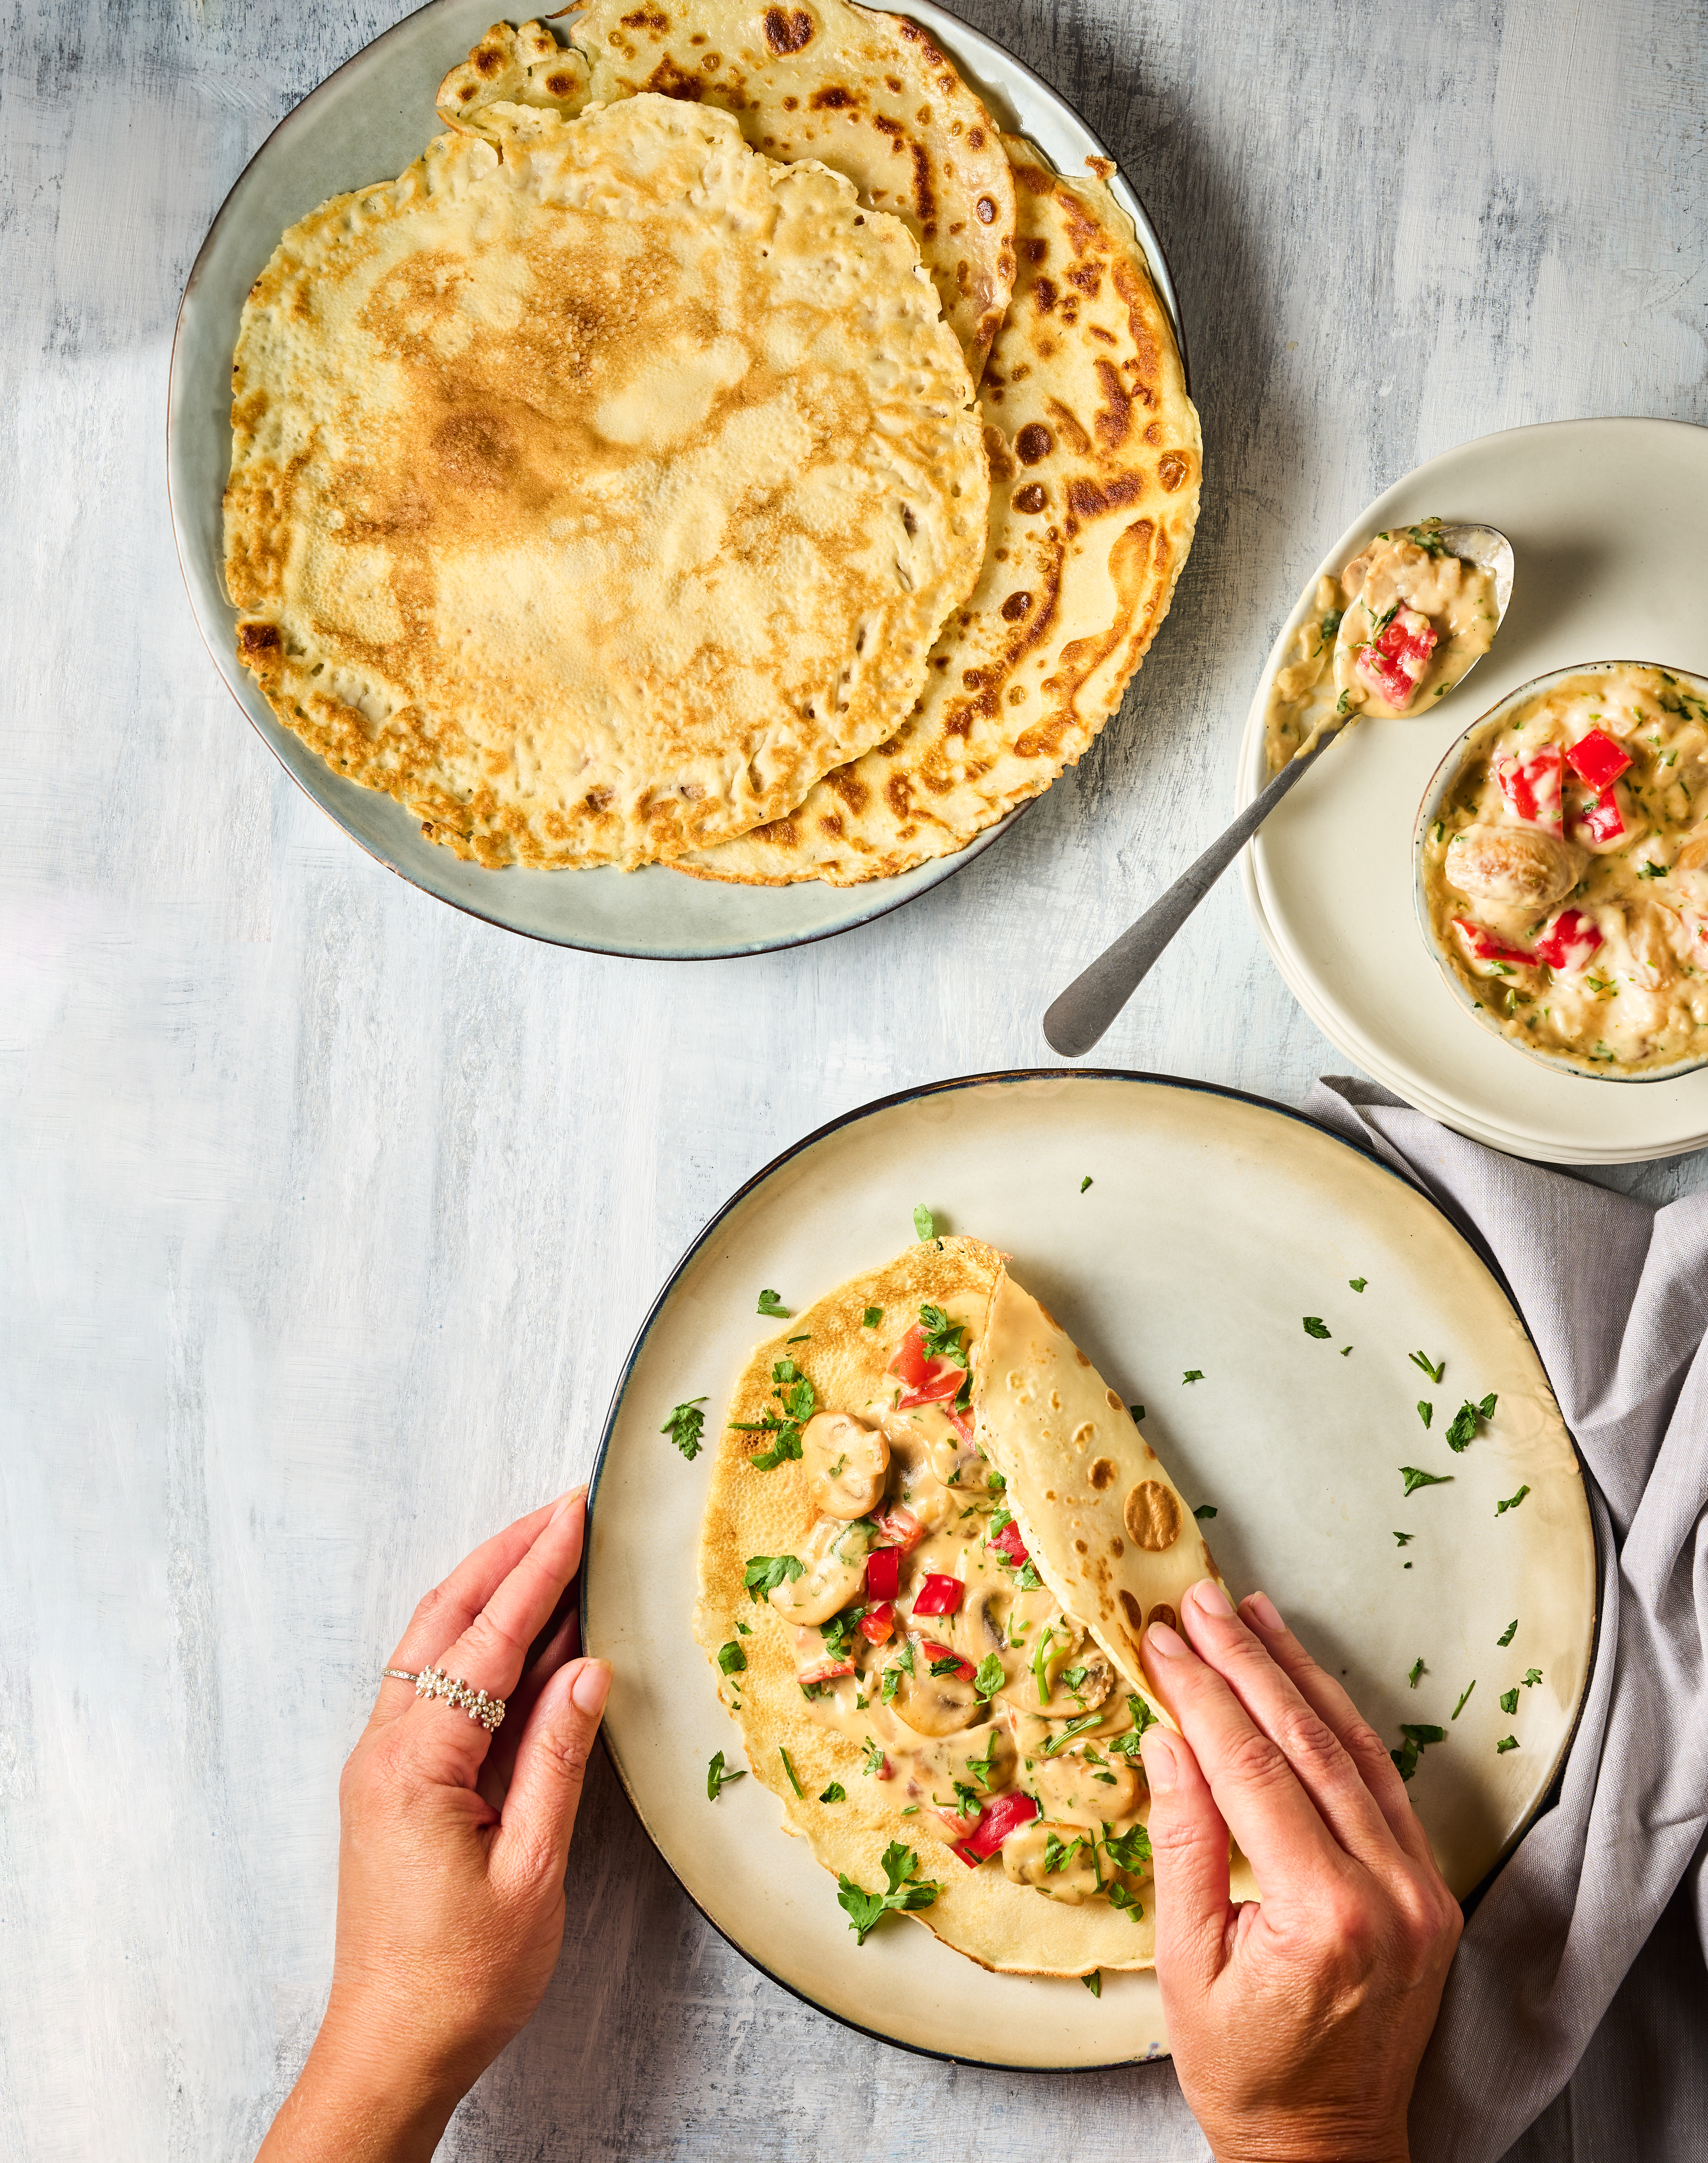
[[[937,1406],[888,1408],[896,1395],[892,1363],[922,1309],[950,1335],[961,1330],[961,1350],[976,1363],[1000,1274],[1000,1255],[976,1239],[922,1242],[816,1300],[756,1348],[714,1443],[695,1635],[740,1726],[747,1765],[825,1869],[881,1893],[883,1852],[901,1841],[920,1858],[918,1875],[942,1886],[916,1919],[981,1966],[1022,1975],[1141,1968],[1154,1960],[1156,1925],[1137,1694],[1059,1611],[1024,1551],[1015,1562],[1013,1547],[998,1544],[1013,1540],[1002,1529],[1002,1484],[972,1441],[970,1417],[950,1419]],[[918,1598],[924,1575],[948,1573],[963,1585],[952,1614],[911,1616],[894,1637],[862,1642],[851,1618],[866,1611],[866,1542],[892,1531],[881,1523],[870,1534],[866,1518],[846,1521],[851,1510],[870,1508],[870,1490],[838,1501],[844,1521],[823,1516],[823,1488],[816,1497],[812,1479],[825,1467],[810,1434],[801,1458],[775,1456],[779,1408],[803,1382],[810,1395],[805,1404],[794,1399],[797,1410],[864,1415],[890,1438],[883,1518],[894,1525],[896,1508],[911,1510],[924,1531],[901,1562],[898,1609]],[[846,1432],[857,1454],[859,1430]],[[862,1467],[844,1475],[862,1477]],[[768,1598],[756,1596],[745,1579],[758,1577],[762,1594],[764,1564],[777,1557],[799,1560],[801,1577]],[[788,1611],[775,1607],[779,1596]],[[807,1598],[816,1605],[797,1605]],[[807,1620],[790,1620],[797,1611]],[[890,1681],[890,1702],[885,1678],[903,1642],[911,1670]],[[801,1676],[814,1676],[838,1644],[857,1653],[859,1670],[810,1683],[818,1696],[807,1700]],[[944,1650],[948,1666],[959,1661],[965,1674],[935,1672]],[[991,1702],[978,1689],[968,1696],[968,1674],[981,1661],[1000,1668]],[[968,1793],[957,1797],[957,1782]],[[968,1867],[957,1854],[963,1834],[950,1819],[1015,1789],[1035,1795],[1039,1817],[1020,1830],[1013,1849]],[[1117,1854],[1128,1856],[1119,1871],[1106,1847],[1111,1832]],[[1015,1882],[1011,1860],[1033,1882]],[[1119,1884],[1124,1906],[1111,1906],[1093,1884]]]

